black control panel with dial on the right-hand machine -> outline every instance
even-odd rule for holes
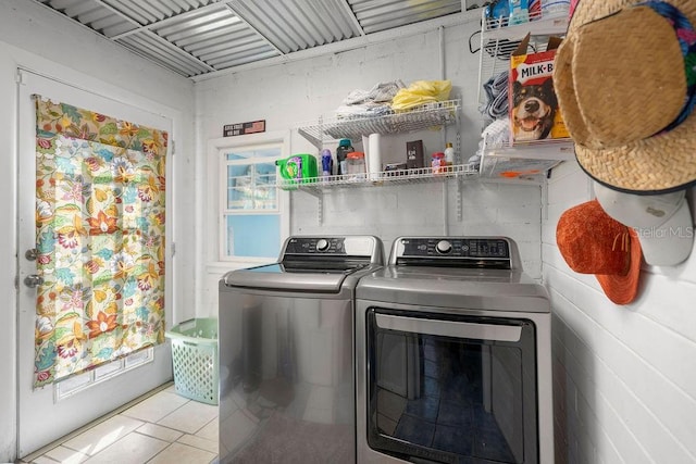
[[[400,237],[390,264],[510,269],[517,246],[507,237]],[[519,261],[517,261],[519,263]]]

